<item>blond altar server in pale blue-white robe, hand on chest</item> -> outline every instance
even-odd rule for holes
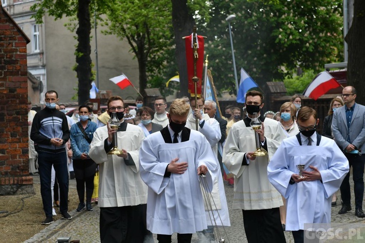
[[[149,135],[140,150],[141,177],[148,186],[147,229],[159,243],[190,242],[192,233],[207,228],[200,174],[209,190],[218,174],[215,156],[204,136],[185,127],[190,107],[172,102],[169,125]]]

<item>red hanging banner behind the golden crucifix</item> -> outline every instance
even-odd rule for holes
[[[204,63],[204,38],[201,35],[196,35],[197,38],[197,52],[194,53],[193,46],[193,34],[185,37],[185,50],[186,50],[186,64],[187,64],[187,77],[188,84],[187,89],[191,97],[195,97],[194,81],[194,57],[198,54],[197,59],[197,77],[199,81],[197,83],[197,97],[201,97],[201,77],[203,75],[203,63]]]

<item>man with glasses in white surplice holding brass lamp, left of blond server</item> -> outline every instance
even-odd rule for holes
[[[139,149],[145,135],[138,126],[124,121],[124,101],[108,100],[108,113],[116,112],[117,129],[99,127],[90,144],[89,156],[99,164],[100,240],[102,243],[143,242],[146,235],[147,186],[139,173]],[[113,133],[124,154],[108,155]]]

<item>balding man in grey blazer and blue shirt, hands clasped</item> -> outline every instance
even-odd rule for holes
[[[345,87],[341,96],[345,105],[333,113],[333,136],[338,146],[344,151],[349,166],[352,166],[355,215],[363,218],[365,217],[363,212],[365,156],[361,155],[361,152],[365,151],[365,106],[355,102],[356,89],[352,86]],[[348,173],[340,187],[343,203],[339,214],[351,210],[349,177]]]

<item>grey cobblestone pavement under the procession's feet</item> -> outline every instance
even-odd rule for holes
[[[39,183],[39,176],[34,176],[34,183]],[[346,214],[338,214],[338,210],[341,208],[340,192],[337,192],[337,206],[332,207],[332,222],[333,223],[363,223],[365,218],[361,219],[355,216],[355,204],[353,195],[353,181],[352,172],[350,175],[351,185],[351,203],[352,210]],[[76,181],[70,180],[70,187],[76,188]],[[243,219],[241,210],[232,210],[233,200],[233,186],[225,185],[225,192],[228,200],[229,215],[231,219],[231,227],[225,227],[228,234],[227,237],[223,236],[225,242],[228,243],[247,243],[245,232],[243,228]],[[73,217],[72,220],[57,220],[54,224],[47,226],[45,229],[40,231],[38,234],[33,236],[31,239],[25,241],[25,243],[55,243],[59,237],[71,237],[71,240],[80,240],[80,243],[99,243],[99,214],[100,208],[98,206],[93,207],[93,211],[83,210],[76,212],[75,210],[70,211],[70,215]],[[306,213],[306,212],[303,212]],[[223,231],[220,231],[221,234]],[[287,243],[293,243],[292,233],[289,231],[285,232]],[[173,243],[176,243],[176,234],[172,237]],[[154,235],[155,243],[157,243],[156,235]],[[192,243],[201,243],[198,240],[196,234],[193,234]],[[213,243],[213,242],[212,242]]]

